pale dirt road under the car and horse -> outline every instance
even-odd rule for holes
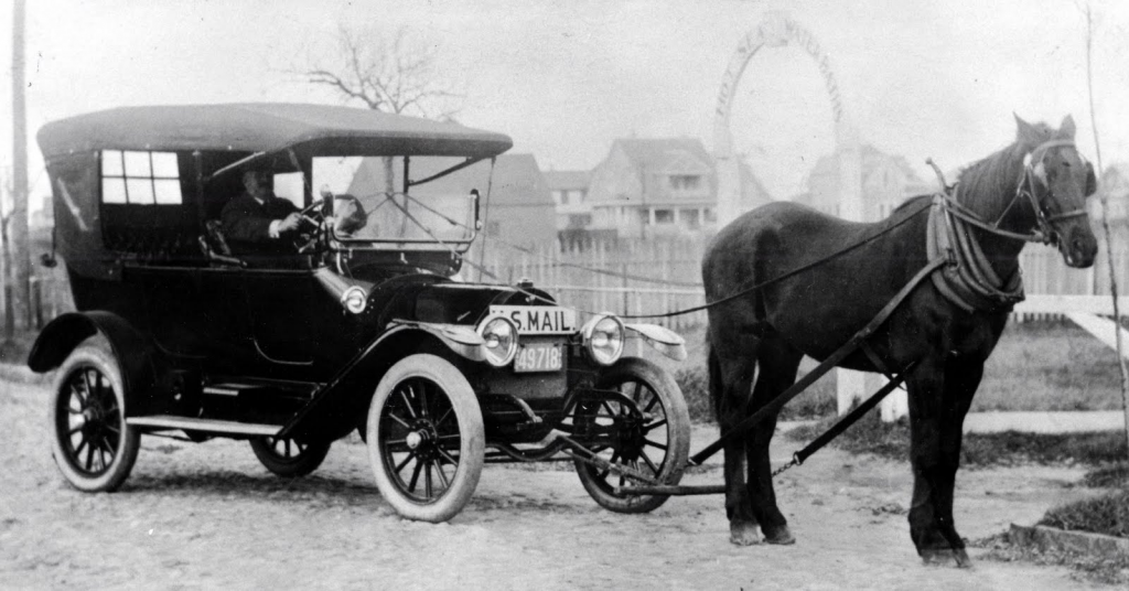
[[[835,450],[780,477],[798,544],[737,548],[718,496],[618,515],[588,498],[564,466],[488,466],[450,523],[404,521],[376,493],[359,443],[336,444],[312,477],[283,480],[246,443],[146,437],[121,492],[77,493],[50,459],[45,400],[42,386],[0,382],[3,589],[1087,586],[1062,568],[1031,564],[921,565],[904,515],[908,467]],[[711,435],[695,429],[694,449]],[[964,470],[957,524],[978,538],[1033,523],[1052,504],[1085,495],[1069,486],[1080,476],[1073,468]],[[720,478],[707,467],[686,480]]]

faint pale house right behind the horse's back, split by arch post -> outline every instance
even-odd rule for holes
[[[874,146],[859,147],[863,219],[870,221],[889,216],[905,199],[929,193],[937,182],[928,183],[901,156],[891,156]],[[807,192],[793,201],[832,216],[839,215],[839,155],[830,154],[816,160],[807,176]]]

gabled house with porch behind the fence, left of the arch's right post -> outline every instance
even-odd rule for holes
[[[743,166],[742,207],[771,201]],[[592,172],[587,193],[595,232],[624,237],[711,231],[717,225],[717,171],[693,138],[616,139]]]

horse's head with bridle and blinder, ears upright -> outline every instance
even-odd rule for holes
[[[1094,166],[1074,144],[1074,118],[1067,115],[1058,130],[1045,123],[1031,124],[1015,116],[1016,141],[1029,154],[1019,191],[1026,192],[1039,229],[1056,244],[1070,267],[1094,263],[1097,238],[1089,226],[1086,198],[1097,190]]]

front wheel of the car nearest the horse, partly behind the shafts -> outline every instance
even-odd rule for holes
[[[597,455],[609,462],[625,463],[662,484],[679,484],[690,453],[690,412],[674,379],[646,359],[628,357],[601,372],[595,385],[624,398],[596,407],[581,406],[575,420],[595,420],[602,427],[628,429],[623,440],[599,449]],[[669,498],[616,494],[616,487],[630,487],[634,480],[579,460],[575,463],[584,488],[610,511],[647,513]]]

